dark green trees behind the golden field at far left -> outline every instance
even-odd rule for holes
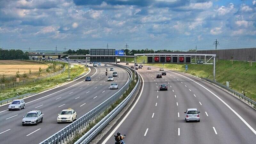
[[[28,52],[23,52],[21,50],[4,50],[0,48],[0,60],[15,60],[23,59],[28,60]]]

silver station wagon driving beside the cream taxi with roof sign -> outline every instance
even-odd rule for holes
[[[22,119],[22,126],[26,124],[36,124],[43,123],[43,113],[40,110],[32,110],[28,112]]]

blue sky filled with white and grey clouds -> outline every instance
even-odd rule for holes
[[[256,47],[256,0],[1,0],[0,47]]]

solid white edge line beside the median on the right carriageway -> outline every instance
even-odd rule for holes
[[[140,73],[138,73],[140,75]],[[141,75],[140,75],[141,76]],[[143,89],[144,89],[144,79],[141,76],[141,80],[142,80],[142,88],[140,91],[140,95],[138,97],[138,99],[135,101],[134,105],[132,106],[132,108],[128,111],[128,113],[124,116],[124,118],[120,121],[119,124],[117,124],[117,126],[115,127],[115,129],[108,135],[108,137],[102,142],[102,144],[106,144],[106,142],[110,139],[110,137],[112,137],[112,135],[116,132],[116,130],[120,127],[120,125],[125,121],[125,119],[129,116],[129,114],[132,112],[133,108],[136,106],[136,104],[138,103],[138,101],[140,100],[140,97],[142,95]]]

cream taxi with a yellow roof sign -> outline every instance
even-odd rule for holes
[[[72,123],[74,120],[76,120],[76,111],[71,108],[63,109],[57,118],[58,123],[61,123],[61,122]]]

